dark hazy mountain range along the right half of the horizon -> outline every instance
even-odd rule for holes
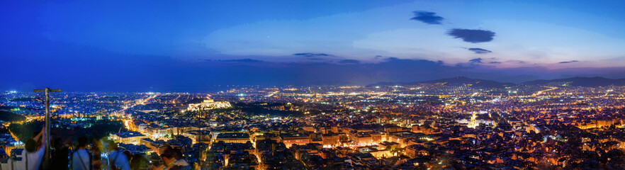
[[[470,79],[468,77],[454,77],[449,79],[437,79],[430,81],[417,82],[379,82],[369,84],[367,86],[410,86],[418,84],[444,84],[446,86],[462,86],[469,85],[481,88],[505,88],[515,85],[567,85],[567,86],[625,86],[625,79],[607,79],[604,77],[572,77],[568,79],[538,79],[534,81],[525,81],[520,84],[502,83],[492,80]]]

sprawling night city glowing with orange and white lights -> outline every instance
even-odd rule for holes
[[[625,149],[625,86],[553,81],[483,88],[471,81],[447,86],[448,80],[254,86],[211,94],[59,93],[52,94],[52,126],[115,120],[122,128],[104,138],[147,157],[160,154],[160,145],[181,146],[195,169],[568,169],[587,167],[589,160],[597,167],[622,163],[612,154]],[[23,145],[13,124],[43,120],[40,97],[2,95],[4,110],[25,117],[4,122],[5,155]]]

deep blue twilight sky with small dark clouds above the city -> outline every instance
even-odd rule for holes
[[[625,77],[624,1],[0,2],[0,90]]]

